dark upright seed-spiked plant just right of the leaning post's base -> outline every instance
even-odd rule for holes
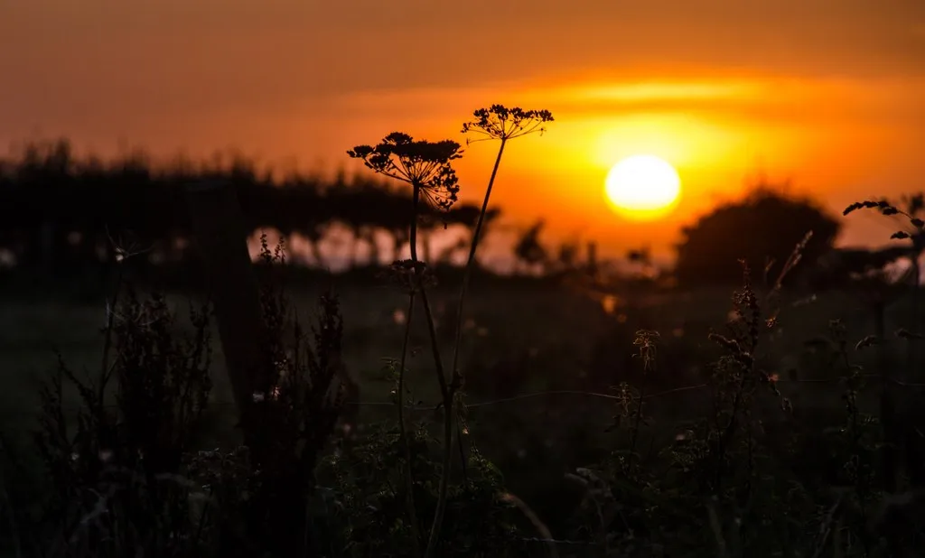
[[[262,238],[262,259],[282,264]],[[302,332],[282,285],[262,286],[266,369],[257,378],[248,418],[255,429],[248,447],[248,498],[241,503],[246,532],[276,555],[311,552],[316,538],[308,503],[316,493],[314,469],[337,423],[347,371],[342,360],[339,299],[320,297],[317,322]],[[230,502],[229,504],[233,504]],[[233,509],[233,508],[232,508]],[[234,548],[233,540],[228,552]]]

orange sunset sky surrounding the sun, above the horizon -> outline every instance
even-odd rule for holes
[[[390,131],[464,143],[475,108],[545,108],[556,121],[506,149],[493,200],[605,253],[669,253],[756,176],[839,214],[925,188],[922,99],[921,0],[0,0],[0,147],[65,136],[351,171],[345,151]],[[466,148],[462,200],[496,149]],[[605,201],[635,153],[681,176],[659,220]],[[841,242],[891,232],[853,215]]]

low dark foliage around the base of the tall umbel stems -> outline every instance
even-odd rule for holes
[[[425,425],[409,433],[418,516],[429,520],[438,502],[439,443]],[[399,471],[406,467],[401,433],[380,424],[363,440],[329,456],[319,470],[327,479],[327,506],[319,516],[329,536],[323,556],[410,556],[413,531],[405,518],[407,490]],[[440,556],[521,556],[515,537],[519,513],[501,496],[499,470],[477,452],[468,456],[466,479],[450,486],[447,529],[440,540]]]

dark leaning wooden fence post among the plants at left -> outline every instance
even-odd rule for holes
[[[262,362],[263,313],[237,193],[224,182],[187,187],[193,242],[215,308],[218,335],[242,424]],[[247,438],[246,424],[245,440]]]

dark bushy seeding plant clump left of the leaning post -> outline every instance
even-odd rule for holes
[[[80,380],[59,360],[41,391],[36,443],[54,486],[43,520],[53,555],[179,556],[200,543],[189,521],[191,482],[182,456],[211,390],[208,313],[191,309],[195,333],[175,331],[164,297],[127,300],[111,312],[116,349],[111,368]],[[116,379],[115,394],[108,386]],[[79,394],[76,417],[65,385]],[[115,405],[107,399],[115,395]]]

